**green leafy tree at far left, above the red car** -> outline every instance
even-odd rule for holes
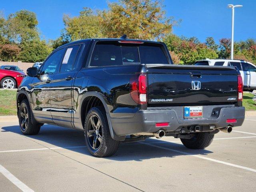
[[[36,14],[28,10],[10,14],[7,20],[0,16],[0,44],[6,45],[6,50],[2,50],[2,53],[5,52],[4,60],[35,62],[46,58],[52,48],[40,40],[37,25]],[[16,49],[17,46],[19,49]]]

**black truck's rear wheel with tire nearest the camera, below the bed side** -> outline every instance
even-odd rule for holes
[[[119,146],[119,141],[112,139],[110,135],[103,107],[94,107],[88,111],[84,123],[84,137],[87,149],[95,157],[112,156]]]

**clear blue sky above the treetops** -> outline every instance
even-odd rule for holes
[[[113,0],[2,0],[0,10],[7,17],[21,9],[36,13],[42,37],[56,39],[64,28],[63,14],[79,15],[82,7],[105,9]],[[165,0],[167,16],[182,19],[174,34],[196,36],[200,41],[212,36],[216,41],[231,36],[231,9],[228,4],[242,4],[235,10],[234,40],[256,38],[256,0]],[[127,34],[129,36],[129,34]]]

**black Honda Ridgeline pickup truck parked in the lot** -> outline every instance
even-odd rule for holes
[[[16,96],[21,132],[38,134],[45,123],[82,130],[97,157],[154,136],[206,148],[214,134],[244,122],[239,70],[174,65],[162,42],[80,40],[27,74]]]

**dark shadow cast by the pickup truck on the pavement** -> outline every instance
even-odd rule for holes
[[[20,132],[20,127],[18,125],[2,127],[1,131],[13,132],[13,133],[19,134],[24,138],[30,139],[36,142],[37,144],[42,145],[42,148],[60,147],[60,148],[66,148],[73,152],[78,152],[83,155],[91,156],[91,154],[88,152],[88,150],[85,147],[86,144],[84,141],[84,132],[79,130],[73,130],[70,128],[64,128],[64,127],[45,124],[44,126],[41,127],[41,130],[37,135],[32,135],[32,136],[23,135]],[[179,141],[179,139],[177,139],[176,141]],[[146,145],[146,143],[152,144],[154,146]],[[70,148],[70,147],[73,147],[73,148]],[[186,155],[186,154],[181,154],[179,152],[166,150],[164,148],[179,150],[179,151],[187,152],[190,154],[207,155],[209,153],[212,153],[211,151],[204,150],[204,149],[189,150],[186,147],[184,147],[183,144],[165,142],[163,140],[155,140],[155,139],[148,138],[144,142],[120,144],[116,154],[106,159],[115,160],[115,161],[131,161],[131,160],[142,161],[142,160],[151,159],[151,158],[161,158],[161,157],[174,158],[176,156]],[[61,153],[60,150],[58,150],[58,152]]]

